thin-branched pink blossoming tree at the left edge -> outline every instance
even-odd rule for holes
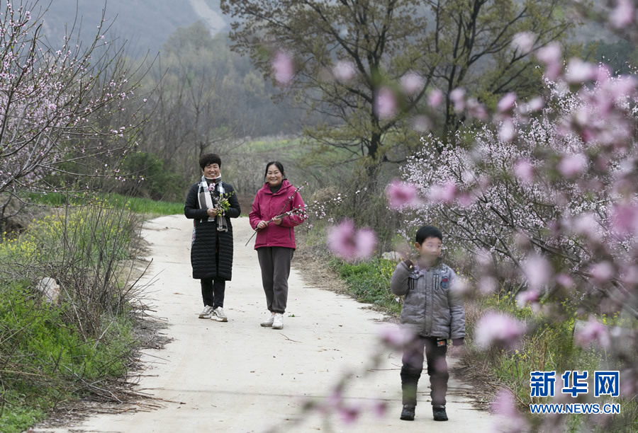
[[[130,149],[135,115],[121,50],[104,40],[104,21],[86,47],[45,44],[35,3],[6,2],[0,11],[0,193],[4,204],[24,191],[57,190],[55,175],[117,176]],[[120,122],[113,125],[114,121]]]

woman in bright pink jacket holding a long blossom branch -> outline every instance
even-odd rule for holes
[[[304,204],[299,192],[286,180],[284,166],[279,161],[267,163],[264,178],[266,183],[254,196],[249,216],[250,225],[257,230],[254,249],[262,268],[269,311],[261,325],[283,329],[290,262],[296,248],[294,226],[303,223],[303,217],[296,214],[279,216]]]

